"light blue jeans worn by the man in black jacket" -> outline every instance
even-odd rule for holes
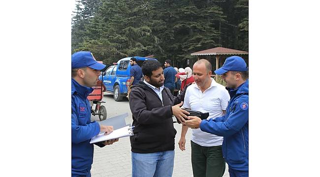
[[[131,152],[132,177],[172,177],[174,150],[154,153]]]

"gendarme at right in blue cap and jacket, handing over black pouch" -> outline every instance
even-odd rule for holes
[[[184,125],[200,127],[201,131],[223,136],[222,151],[229,167],[230,177],[249,176],[249,79],[244,59],[232,56],[215,71],[222,75],[231,100],[226,114],[218,118],[201,120],[190,116]],[[189,88],[188,88],[189,89]],[[188,91],[188,90],[187,90]],[[186,93],[187,96],[187,93]],[[183,122],[184,123],[184,122]]]

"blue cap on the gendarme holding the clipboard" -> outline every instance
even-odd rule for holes
[[[81,51],[72,54],[71,56],[71,68],[90,67],[96,70],[102,70],[106,65],[96,61],[91,52]]]

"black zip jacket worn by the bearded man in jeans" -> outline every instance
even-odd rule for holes
[[[162,101],[157,93],[140,82],[131,88],[129,105],[132,112],[133,136],[130,136],[131,151],[153,153],[174,150],[177,131],[173,127],[172,106],[184,100],[186,89],[178,97],[164,87]]]

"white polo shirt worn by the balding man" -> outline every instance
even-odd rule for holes
[[[196,84],[187,88],[183,107],[202,113],[208,112],[207,119],[217,118],[223,116],[222,110],[226,109],[229,100],[230,95],[225,87],[211,78],[210,87],[203,93]],[[198,128],[192,129],[191,140],[200,146],[213,147],[222,145],[224,137],[203,132]]]

